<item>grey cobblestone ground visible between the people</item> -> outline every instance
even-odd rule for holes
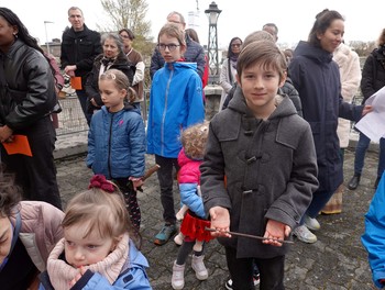
[[[345,153],[345,182],[352,176],[354,156]],[[90,169],[85,166],[85,156],[57,160],[57,178],[64,204],[67,200],[88,186]],[[154,164],[153,156],[147,156],[147,167]],[[374,289],[367,255],[361,245],[360,236],[364,231],[364,214],[373,197],[373,183],[376,176],[377,155],[369,153],[361,186],[355,191],[345,190],[343,212],[337,215],[321,215],[321,230],[317,233],[318,242],[312,245],[295,239],[292,252],[287,255],[285,266],[286,289]],[[155,290],[170,288],[172,265],[178,247],[174,242],[155,246],[153,236],[160,231],[162,205],[156,176],[146,180],[144,192],[139,194],[142,210],[142,252],[150,261],[147,270]],[[178,194],[175,190],[175,207],[178,208]],[[185,289],[224,289],[228,279],[224,252],[212,241],[206,248],[206,266],[209,278],[198,281],[190,268],[186,267]],[[257,287],[256,287],[257,288]]]

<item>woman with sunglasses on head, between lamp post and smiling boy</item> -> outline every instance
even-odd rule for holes
[[[233,37],[228,48],[228,58],[223,60],[219,85],[223,88],[221,100],[219,102],[219,111],[222,110],[223,102],[232,86],[235,82],[237,60],[242,49],[242,40]]]

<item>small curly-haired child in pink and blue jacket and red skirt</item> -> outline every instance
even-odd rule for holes
[[[184,215],[180,234],[176,239],[182,242],[177,259],[173,266],[173,289],[183,289],[185,286],[185,263],[188,255],[193,254],[191,267],[199,280],[208,278],[208,271],[204,264],[204,242],[212,237],[205,227],[210,227],[210,222],[205,220],[206,213],[200,194],[200,170],[206,142],[208,136],[208,123],[198,123],[187,127],[182,133],[180,142],[183,145],[178,155],[180,166],[178,172],[178,183],[180,191],[180,201],[184,204],[180,214]]]

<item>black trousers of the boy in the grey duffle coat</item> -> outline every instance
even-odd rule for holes
[[[224,247],[226,259],[234,290],[254,290],[253,264],[255,263],[261,277],[260,290],[283,290],[285,274],[285,256],[270,259],[237,258],[237,249]]]

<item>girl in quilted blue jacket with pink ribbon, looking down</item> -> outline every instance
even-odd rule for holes
[[[125,74],[118,69],[100,76],[99,90],[105,105],[90,123],[86,163],[94,174],[118,185],[140,238],[136,188],[143,183],[145,169],[145,130],[140,110],[133,105],[136,93]]]

